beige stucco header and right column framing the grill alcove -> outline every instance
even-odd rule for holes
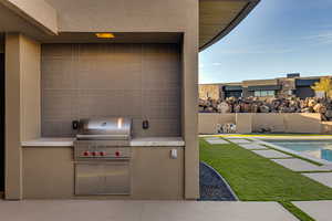
[[[46,0],[58,11],[61,32],[183,32],[181,134],[185,196],[199,197],[198,8],[197,0]],[[107,21],[107,22],[105,22]]]

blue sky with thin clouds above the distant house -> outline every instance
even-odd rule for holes
[[[261,0],[199,53],[199,83],[332,75],[332,0]]]

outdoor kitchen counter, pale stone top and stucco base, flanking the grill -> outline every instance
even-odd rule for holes
[[[43,137],[21,144],[23,199],[81,199],[74,191],[75,176],[77,167],[84,162],[77,162],[74,158],[74,140]],[[132,155],[129,162],[126,162],[131,169],[131,194],[103,197],[117,200],[181,200],[184,140],[180,137],[141,137],[132,139],[131,146]],[[107,168],[114,166],[112,160],[108,164]],[[96,196],[85,199],[96,199]]]

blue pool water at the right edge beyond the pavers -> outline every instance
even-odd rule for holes
[[[332,161],[332,140],[264,140],[311,157]]]

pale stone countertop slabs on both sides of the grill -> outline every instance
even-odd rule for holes
[[[71,137],[41,137],[38,139],[22,141],[22,147],[72,147],[75,138]],[[133,138],[133,147],[175,147],[185,146],[181,137],[141,137]]]

